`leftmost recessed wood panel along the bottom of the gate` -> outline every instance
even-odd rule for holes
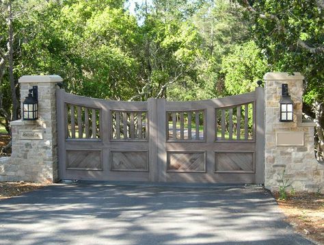
[[[102,170],[101,151],[68,150],[66,151],[66,169]]]

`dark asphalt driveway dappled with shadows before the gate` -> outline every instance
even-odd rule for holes
[[[312,244],[260,188],[51,185],[0,201],[0,244]]]

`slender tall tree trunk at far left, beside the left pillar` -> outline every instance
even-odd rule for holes
[[[13,27],[12,1],[8,3],[8,52],[9,52],[9,79],[12,96],[12,117],[11,120],[18,119],[18,100],[16,95],[16,83],[14,81],[14,27]]]

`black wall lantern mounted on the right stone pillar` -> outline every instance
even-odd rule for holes
[[[280,99],[280,122],[293,122],[294,102],[288,94],[288,84],[282,84],[282,96]]]

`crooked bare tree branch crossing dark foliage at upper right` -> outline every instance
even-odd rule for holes
[[[249,12],[257,14],[260,18],[271,19],[271,20],[275,21],[275,24],[278,27],[278,31],[280,31],[280,32],[286,32],[287,31],[286,27],[284,27],[284,25],[282,25],[282,23],[281,23],[280,19],[278,18],[278,16],[275,16],[274,14],[269,14],[269,13],[266,13],[266,14],[258,13],[249,4],[249,1],[247,1],[247,0],[243,0],[243,3],[245,5],[245,8]],[[297,38],[297,46],[301,47],[302,49],[306,49],[310,53],[324,53],[324,47],[323,46],[321,46],[321,47],[310,47],[308,44],[306,44],[306,42],[304,42],[300,38]]]

